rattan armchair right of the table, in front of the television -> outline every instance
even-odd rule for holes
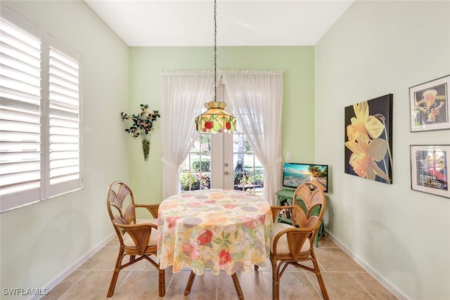
[[[300,197],[306,207],[305,211],[295,200]],[[326,197],[316,183],[307,182],[300,185],[294,193],[293,205],[271,207],[274,226],[271,233],[272,285],[274,300],[279,299],[280,279],[286,268],[291,264],[316,273],[321,287],[323,299],[329,299],[325,282],[314,254],[314,238],[321,226],[326,207]],[[276,223],[281,209],[292,209],[293,225]],[[314,268],[303,265],[302,261],[312,261]]]

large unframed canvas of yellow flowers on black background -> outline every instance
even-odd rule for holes
[[[345,173],[392,184],[392,99],[345,107]]]

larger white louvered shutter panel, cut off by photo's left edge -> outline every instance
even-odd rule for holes
[[[26,27],[0,20],[1,211],[41,197],[41,41]]]

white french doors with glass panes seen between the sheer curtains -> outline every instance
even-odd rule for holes
[[[218,90],[221,91],[218,94],[220,99],[224,93]],[[232,111],[229,106],[226,109]],[[191,152],[180,167],[181,192],[226,188],[263,195],[264,168],[239,124],[236,127],[236,132],[231,134],[198,134]]]

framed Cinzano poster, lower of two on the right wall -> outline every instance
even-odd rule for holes
[[[450,198],[450,145],[411,145],[411,190]]]

